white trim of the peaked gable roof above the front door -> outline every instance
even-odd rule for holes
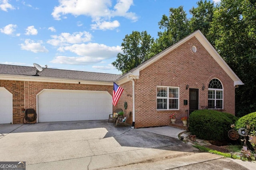
[[[130,81],[129,78],[128,78],[129,76],[133,76],[134,78],[138,78],[140,76],[140,70],[143,70],[144,68],[146,68],[150,64],[154,63],[155,61],[157,61],[158,59],[160,59],[161,57],[163,57],[164,55],[166,55],[170,51],[176,49],[177,47],[179,47],[180,45],[182,45],[183,43],[185,43],[186,41],[188,41],[192,37],[196,37],[196,39],[202,44],[202,46],[213,57],[213,59],[228,74],[228,76],[230,76],[230,78],[234,81],[234,86],[238,86],[238,85],[243,85],[244,84],[238,78],[238,76],[233,72],[233,70],[228,66],[228,64],[222,59],[222,57],[220,57],[218,52],[214,49],[214,47],[212,47],[210,42],[206,39],[206,37],[204,37],[204,35],[202,34],[202,32],[200,30],[195,31],[194,33],[192,33],[192,34],[188,35],[187,37],[185,37],[184,39],[178,41],[177,43],[175,43],[171,47],[168,47],[167,49],[165,49],[164,51],[158,53],[154,57],[151,57],[147,61],[144,61],[143,63],[138,65],[136,68],[133,68],[132,70],[127,72],[126,74],[123,74],[120,78],[118,78],[116,80],[116,82],[124,83],[124,82]]]

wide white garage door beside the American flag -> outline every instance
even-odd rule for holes
[[[103,120],[111,113],[108,92],[44,89],[38,94],[38,122]]]

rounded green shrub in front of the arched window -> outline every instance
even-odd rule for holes
[[[228,139],[230,125],[237,118],[215,110],[196,110],[189,116],[189,131],[199,139],[223,141]]]

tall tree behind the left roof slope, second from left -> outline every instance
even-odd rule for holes
[[[161,21],[158,22],[159,28],[163,32],[158,32],[158,39],[156,39],[152,46],[151,55],[160,53],[189,35],[188,24],[187,14],[183,10],[183,6],[170,8],[169,17],[163,15]]]

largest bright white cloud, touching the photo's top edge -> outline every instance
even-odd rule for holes
[[[92,22],[96,22],[92,24],[92,29],[114,29],[120,25],[118,21],[110,21],[114,17],[138,20],[135,13],[128,12],[133,5],[133,0],[117,0],[113,8],[111,8],[111,0],[61,0],[59,2],[59,6],[55,6],[52,12],[55,20],[61,20],[61,17],[63,18],[66,14],[90,16]]]

